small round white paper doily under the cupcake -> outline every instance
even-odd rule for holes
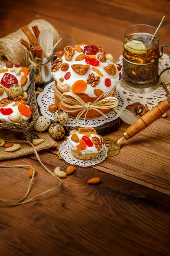
[[[104,146],[101,152],[99,152],[96,157],[91,160],[79,160],[74,157],[71,153],[71,149],[68,147],[67,141],[64,141],[59,147],[59,153],[65,160],[65,162],[70,163],[71,165],[78,165],[83,167],[92,166],[98,163],[101,163],[108,156],[108,148]]]

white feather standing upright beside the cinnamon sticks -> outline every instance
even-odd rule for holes
[[[54,36],[51,30],[42,30],[40,32],[38,42],[42,47],[43,51],[49,57],[53,53],[53,40]]]

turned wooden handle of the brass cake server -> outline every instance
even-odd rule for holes
[[[123,135],[127,140],[129,138],[132,138],[133,136],[138,134],[140,131],[144,130],[147,126],[151,125],[153,122],[159,119],[168,110],[170,110],[170,101],[168,101],[167,99],[164,99],[154,108],[152,108],[150,111],[148,111],[138,120],[136,120],[136,122],[130,125],[125,130]]]

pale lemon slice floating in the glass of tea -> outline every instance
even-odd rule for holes
[[[132,54],[146,54],[147,48],[142,41],[130,40],[124,45],[125,49]]]

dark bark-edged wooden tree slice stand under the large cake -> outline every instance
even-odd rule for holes
[[[51,122],[55,123],[54,120],[51,120]],[[122,124],[122,119],[120,117],[118,117],[116,120],[113,120],[111,122],[106,122],[105,124],[99,125],[94,127],[97,134],[104,136],[107,134],[111,134],[113,131],[116,131],[119,126]],[[68,136],[71,130],[77,130],[79,129],[79,126],[64,126],[65,129],[65,135]]]

